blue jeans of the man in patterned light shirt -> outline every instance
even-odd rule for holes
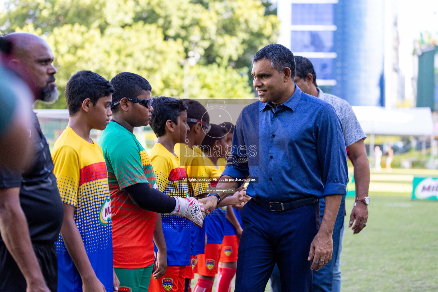
[[[324,199],[319,200],[319,208],[320,208],[320,216],[324,215]],[[319,271],[313,271],[313,283],[312,288],[313,292],[339,292],[340,290],[340,270],[339,269],[339,257],[342,246],[341,232],[344,230],[344,216],[345,216],[345,196],[342,196],[341,205],[339,207],[338,216],[336,217],[335,227],[333,229],[333,254],[332,260],[329,261],[324,267],[322,267]],[[322,219],[321,219],[322,220]],[[336,269],[336,270],[335,270]],[[336,273],[336,271],[338,273]],[[336,280],[334,280],[334,274],[338,276]],[[271,291],[272,292],[281,292],[281,283],[279,281],[280,277],[279,268],[276,266],[272,271],[271,275]],[[335,283],[333,283],[335,281]],[[339,289],[339,290],[334,290]]]

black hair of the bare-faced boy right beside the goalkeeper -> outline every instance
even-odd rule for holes
[[[149,122],[152,130],[157,137],[166,134],[166,122],[171,120],[178,124],[178,116],[181,112],[187,110],[187,106],[181,99],[173,99],[167,96],[154,97],[152,99],[152,119]]]

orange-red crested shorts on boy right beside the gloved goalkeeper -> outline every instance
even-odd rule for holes
[[[184,292],[186,271],[187,271],[187,266],[168,266],[166,273],[161,278],[154,279],[153,277],[151,277],[151,282],[149,284],[148,291]]]

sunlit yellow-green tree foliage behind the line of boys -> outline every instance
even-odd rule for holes
[[[108,79],[134,72],[153,94],[182,96],[191,58],[190,97],[254,97],[251,57],[276,41],[279,25],[266,0],[9,0],[6,7],[2,32],[46,37],[60,91],[87,69]],[[63,99],[55,105],[64,106]]]

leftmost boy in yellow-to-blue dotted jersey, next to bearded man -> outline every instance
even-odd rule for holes
[[[90,130],[104,130],[113,87],[99,74],[79,71],[65,88],[67,129],[53,147],[64,220],[56,243],[58,291],[118,290],[113,271],[111,201],[102,148]]]

